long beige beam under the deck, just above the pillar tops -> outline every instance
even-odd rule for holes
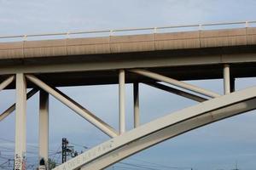
[[[218,51],[218,49],[216,49]],[[214,51],[214,50],[213,50]],[[171,53],[170,53],[171,54]],[[49,60],[49,64],[30,64],[27,65],[2,65],[0,67],[1,75],[9,75],[16,74],[17,72],[24,73],[56,73],[56,72],[75,72],[75,71],[112,71],[119,69],[133,69],[133,68],[155,68],[155,67],[176,67],[176,66],[204,66],[204,65],[224,65],[225,63],[230,64],[250,64],[256,63],[256,52],[241,53],[241,54],[206,54],[203,49],[199,52],[199,54],[205,55],[188,55],[181,57],[179,54],[172,55],[170,57],[160,56],[160,54],[154,54],[158,57],[142,57],[142,55],[137,54],[137,57],[131,59],[107,59],[107,57],[103,57],[104,61],[98,62],[98,58],[94,58],[96,56],[90,56],[90,62],[81,61],[81,59],[77,59],[77,61],[73,61],[72,63],[61,63],[60,60],[51,61]],[[134,55],[134,54],[132,54]],[[150,55],[150,54],[148,54]],[[152,55],[152,54],[151,54]],[[116,55],[113,54],[116,57]],[[98,57],[98,56],[97,56]],[[75,56],[71,56],[70,59],[75,59]],[[69,59],[69,58],[68,58]],[[63,59],[62,59],[63,60]],[[32,60],[35,63],[34,60]],[[121,62],[120,62],[121,61]],[[1,62],[1,61],[0,61]],[[28,60],[29,62],[29,60]],[[189,74],[189,73],[188,73]]]

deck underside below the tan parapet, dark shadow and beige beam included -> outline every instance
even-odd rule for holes
[[[116,84],[120,68],[145,68],[177,80],[218,79],[223,77],[223,65],[226,63],[230,65],[233,78],[256,77],[256,46],[187,50],[2,59],[0,80],[22,71],[33,73],[55,87]],[[127,72],[125,82],[154,80]],[[27,87],[32,88],[33,85],[28,83]],[[15,83],[8,88],[15,88]]]

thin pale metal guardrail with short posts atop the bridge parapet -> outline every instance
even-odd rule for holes
[[[28,37],[67,36],[67,38],[69,38],[71,35],[96,34],[96,33],[109,33],[109,36],[113,36],[114,32],[125,32],[125,31],[152,31],[152,33],[157,33],[158,31],[164,30],[164,29],[188,28],[188,27],[191,27],[191,28],[198,27],[198,30],[204,30],[206,26],[244,25],[244,28],[246,28],[246,27],[250,27],[251,24],[256,24],[256,20],[241,21],[241,22],[197,24],[197,25],[182,25],[182,26],[160,26],[160,27],[127,28],[127,29],[99,30],[99,31],[74,31],[74,32],[71,31],[71,32],[48,33],[48,34],[28,34],[28,35],[20,35],[20,36],[0,37],[0,39],[22,38],[23,41],[26,41]]]

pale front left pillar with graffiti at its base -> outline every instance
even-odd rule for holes
[[[26,169],[26,79],[16,74],[15,170]]]

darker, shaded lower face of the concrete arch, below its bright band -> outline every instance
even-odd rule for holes
[[[245,105],[247,105],[247,107],[244,107]],[[235,107],[241,109],[234,111]],[[215,112],[212,111],[207,115],[196,116],[195,118],[189,119],[188,121],[177,123],[176,125],[171,127],[166,127],[157,133],[148,135],[143,139],[138,139],[137,141],[132,142],[131,144],[127,144],[119,148],[118,150],[114,150],[113,152],[105,156],[99,157],[98,159],[96,159],[96,161],[91,161],[90,163],[86,164],[84,167],[81,168],[81,170],[97,170],[109,167],[117,161],[121,161],[128,156],[136,154],[139,151],[152,147],[155,144],[159,144],[160,142],[163,142],[166,139],[172,139],[177,135],[186,133],[197,127],[202,127],[209,123],[222,120],[223,118],[235,116],[237,114],[241,114],[242,112],[250,111],[253,109],[256,109],[256,99],[248,100],[237,105],[232,105],[229,108],[224,108],[222,110],[218,110]],[[212,115],[214,115],[213,118]]]

